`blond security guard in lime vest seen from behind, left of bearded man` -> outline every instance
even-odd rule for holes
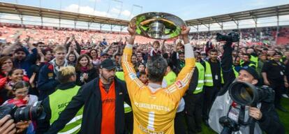
[[[61,84],[57,87],[57,90],[53,94],[50,94],[43,101],[43,111],[46,116],[43,120],[38,120],[36,133],[45,133],[50,124],[56,121],[59,114],[66,108],[68,103],[71,102],[71,98],[75,96],[80,89],[75,85],[76,75],[75,68],[73,66],[66,66],[60,68],[57,74],[57,80]],[[60,133],[78,133],[82,122],[83,107],[75,114],[69,124],[59,131]]]

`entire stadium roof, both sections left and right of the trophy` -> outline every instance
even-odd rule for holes
[[[72,13],[64,10],[53,10],[48,8],[39,8],[34,6],[24,6],[15,3],[0,2],[0,13],[29,15],[36,17],[49,17],[62,20],[76,20],[80,22],[95,22],[100,24],[112,24],[127,27],[128,20],[114,19],[110,17],[101,17],[96,15],[87,15],[81,13]],[[186,20],[188,26],[196,26],[202,24],[214,24],[222,22],[239,20],[256,19],[260,17],[273,17],[277,15],[289,15],[289,4],[282,6],[273,6],[269,8],[260,8],[255,10],[246,10],[237,13],[229,13],[225,15],[216,15],[212,17],[203,17],[200,19]]]

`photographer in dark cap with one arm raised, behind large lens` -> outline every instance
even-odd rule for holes
[[[258,73],[255,71],[254,68],[251,68],[249,66],[241,68],[239,70],[239,76],[235,77],[232,69],[233,49],[231,45],[232,40],[226,40],[226,43],[223,46],[224,53],[221,67],[223,68],[223,77],[225,84],[223,89],[218,93],[218,96],[209,112],[209,126],[217,133],[221,133],[223,129],[223,127],[219,123],[220,117],[225,117],[230,110],[230,105],[233,104],[232,98],[230,98],[228,93],[228,87],[230,86],[230,84],[236,81],[248,82],[253,85],[258,83]],[[262,133],[262,131],[265,131],[268,134],[285,133],[283,125],[279,120],[279,116],[274,110],[274,102],[272,101],[272,103],[268,103],[260,101],[260,103],[258,103],[258,106],[260,106],[260,108],[249,108],[249,116],[255,119],[256,124],[242,127],[239,131],[241,131],[242,133],[252,133],[252,131],[253,133]]]

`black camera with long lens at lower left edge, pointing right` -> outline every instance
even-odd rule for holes
[[[36,120],[43,113],[41,101],[35,102],[33,105],[17,107],[14,104],[0,106],[0,119],[10,114],[15,122]]]

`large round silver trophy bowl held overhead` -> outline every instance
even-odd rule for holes
[[[181,34],[181,27],[186,26],[184,20],[169,13],[142,13],[131,19],[135,24],[136,34],[147,38],[168,39]]]

